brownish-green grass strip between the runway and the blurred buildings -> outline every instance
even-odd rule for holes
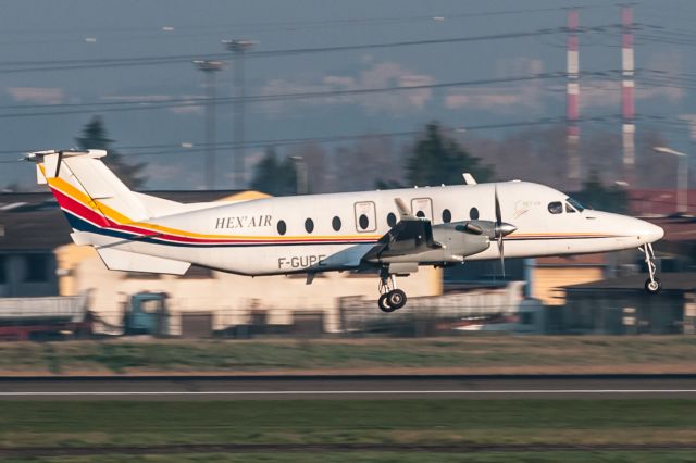
[[[696,373],[686,336],[0,343],[0,374]]]

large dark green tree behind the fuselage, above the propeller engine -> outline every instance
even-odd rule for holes
[[[417,141],[406,170],[411,185],[458,185],[464,172],[471,173],[476,182],[493,177],[493,168],[482,165],[478,158],[445,136],[438,123],[425,127],[425,135]]]

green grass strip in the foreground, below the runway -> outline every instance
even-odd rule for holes
[[[696,461],[696,401],[2,402],[0,450],[172,445],[582,446],[584,451],[177,452],[146,461]],[[593,450],[593,446],[648,446]],[[687,446],[679,450],[678,446]],[[671,450],[674,448],[674,450]],[[7,458],[11,455],[5,455]],[[14,458],[14,456],[13,456]],[[15,461],[94,461],[30,456]],[[82,459],[82,460],[80,460]],[[99,461],[145,455],[100,454]]]

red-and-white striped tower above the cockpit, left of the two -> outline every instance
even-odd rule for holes
[[[568,10],[568,87],[566,98],[566,118],[567,135],[566,147],[568,153],[568,179],[571,188],[580,187],[580,126],[577,118],[580,116],[579,97],[580,97],[580,55],[579,55],[579,11],[576,9]]]

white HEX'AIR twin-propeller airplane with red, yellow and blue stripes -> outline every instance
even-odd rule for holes
[[[76,245],[114,271],[184,274],[191,264],[241,275],[375,272],[380,309],[406,304],[396,276],[420,265],[638,248],[658,292],[651,243],[662,228],[588,210],[526,182],[183,204],[129,190],[103,150],[38,151],[37,179],[65,212]]]

